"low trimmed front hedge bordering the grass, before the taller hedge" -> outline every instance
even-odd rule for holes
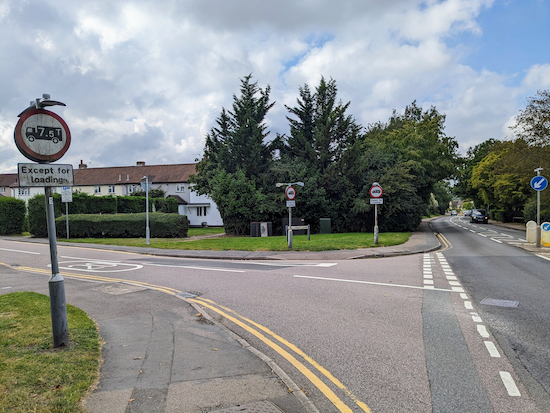
[[[55,220],[58,237],[66,235],[66,216]],[[69,215],[70,238],[144,238],[146,214]],[[184,238],[189,229],[187,216],[153,212],[149,214],[151,238]]]

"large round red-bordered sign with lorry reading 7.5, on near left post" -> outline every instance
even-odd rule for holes
[[[71,132],[65,121],[44,109],[23,113],[15,126],[14,138],[19,151],[35,162],[57,161],[71,144]]]

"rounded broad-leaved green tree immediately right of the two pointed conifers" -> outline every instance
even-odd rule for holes
[[[356,210],[368,205],[372,182],[384,188],[381,222],[386,230],[412,231],[428,210],[438,182],[456,174],[458,144],[443,133],[445,116],[435,108],[423,111],[413,102],[388,123],[371,125],[363,138],[367,181],[358,191]],[[381,227],[382,229],[382,227]]]

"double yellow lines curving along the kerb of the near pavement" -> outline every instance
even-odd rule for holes
[[[46,269],[40,269],[40,268],[31,268],[31,267],[14,267],[9,264],[4,264],[0,262],[0,265],[4,265],[6,267],[9,267],[14,270],[20,270],[20,271],[26,271],[26,272],[33,272],[33,273],[39,273],[39,274],[45,274],[45,275],[51,275],[51,271]],[[142,281],[130,281],[122,278],[110,278],[110,277],[102,277],[98,275],[88,275],[88,274],[74,274],[74,273],[68,273],[68,272],[62,272],[61,275],[63,277],[69,277],[69,278],[77,278],[77,279],[83,279],[83,280],[90,280],[90,281],[99,281],[99,282],[110,282],[110,283],[126,283],[126,284],[132,284],[137,286],[142,286],[145,288],[161,291],[170,295],[176,295],[181,293],[182,291],[177,290],[175,288],[170,287],[163,287],[158,286],[154,284],[149,284]],[[271,347],[273,350],[275,350],[278,354],[280,354],[284,359],[286,359],[288,362],[290,362],[300,373],[302,373],[315,387],[317,387],[321,393],[325,395],[327,399],[330,400],[332,404],[342,413],[352,413],[353,411],[351,408],[346,405],[331,389],[329,386],[327,386],[316,374],[314,374],[306,365],[302,362],[300,362],[295,356],[293,356],[289,351],[285,350],[281,345],[277,344],[274,340],[278,341],[280,344],[286,346],[289,350],[294,352],[296,355],[302,357],[307,363],[309,363],[311,366],[313,366],[319,373],[321,373],[326,379],[328,379],[331,383],[333,383],[336,387],[338,387],[340,390],[345,392],[354,402],[357,406],[359,406],[364,412],[370,413],[371,410],[369,407],[360,401],[351,391],[349,391],[344,384],[338,380],[336,377],[334,377],[327,369],[325,369],[323,366],[321,366],[319,363],[317,363],[315,360],[313,360],[311,357],[309,357],[307,354],[305,354],[302,350],[300,350],[298,347],[296,347],[294,344],[288,342],[284,338],[280,337],[273,331],[269,330],[267,327],[262,326],[261,324],[258,324],[252,320],[249,320],[246,317],[243,317],[239,314],[237,314],[235,311],[221,306],[217,303],[215,303],[212,300],[208,300],[206,298],[187,298],[184,299],[186,301],[193,302],[195,304],[198,304],[202,307],[209,308],[210,310],[220,314],[221,316],[225,317],[227,320],[235,323],[239,327],[243,328],[245,331],[249,332],[250,334],[254,335],[256,338],[261,340],[263,343],[267,344],[269,347]],[[265,333],[264,334],[262,334]],[[266,335],[271,336],[271,338],[266,337]]]

